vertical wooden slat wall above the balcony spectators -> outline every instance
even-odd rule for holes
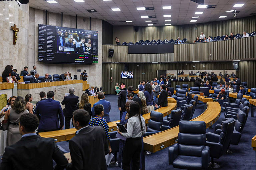
[[[226,34],[229,35],[230,32],[233,32],[234,34],[243,34],[243,31],[251,33],[256,31],[255,25],[256,17],[254,15],[250,17],[202,24],[138,27],[138,32],[134,31],[134,42],[158,39],[176,40],[178,37],[181,39],[186,38],[187,42],[193,42],[197,36],[200,36],[201,32],[203,32],[207,37],[217,37]],[[197,28],[196,30],[195,27]]]

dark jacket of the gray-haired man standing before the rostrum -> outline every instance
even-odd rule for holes
[[[72,117],[73,112],[77,109],[77,103],[78,103],[78,96],[74,94],[69,94],[68,96],[65,96],[63,101],[61,102],[62,105],[65,105],[64,108],[64,116],[66,117]]]

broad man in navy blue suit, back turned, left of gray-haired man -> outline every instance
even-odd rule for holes
[[[47,93],[47,99],[39,101],[35,115],[39,118],[39,132],[53,131],[63,128],[64,117],[60,102],[54,100],[54,92]]]

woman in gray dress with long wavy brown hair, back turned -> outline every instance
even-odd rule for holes
[[[18,96],[11,109],[5,114],[5,120],[8,120],[9,126],[7,131],[6,145],[12,145],[21,139],[19,132],[19,118],[21,115],[29,113],[25,108],[25,101],[21,96]]]

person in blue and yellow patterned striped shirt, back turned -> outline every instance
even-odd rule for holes
[[[101,126],[104,130],[105,133],[107,135],[107,139],[108,139],[108,149],[109,149],[109,153],[111,153],[112,149],[110,147],[110,135],[109,135],[109,126],[107,124],[107,122],[103,119],[104,117],[104,107],[102,104],[96,105],[94,106],[94,111],[95,111],[95,117],[92,118],[89,121],[89,126]]]

